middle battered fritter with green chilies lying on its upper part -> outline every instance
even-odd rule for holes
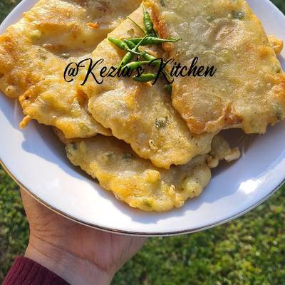
[[[142,9],[135,11],[130,18],[142,25]],[[108,37],[129,38],[129,31],[132,36],[141,36],[140,30],[127,19]],[[103,66],[118,66],[124,54],[105,39],[92,54],[93,63],[104,58],[104,63],[93,69],[95,77],[100,78]],[[83,78],[85,75],[86,72]],[[82,90],[89,98],[89,111],[95,120],[110,128],[116,138],[128,142],[140,157],[167,169],[170,165],[182,165],[196,155],[209,152],[214,133],[190,133],[172,107],[171,95],[164,85],[162,81],[157,81],[154,86],[136,83],[128,77],[104,78],[99,85],[90,77]]]

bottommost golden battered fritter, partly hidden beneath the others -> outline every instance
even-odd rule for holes
[[[66,146],[73,165],[81,167],[117,199],[144,211],[169,211],[199,196],[211,178],[210,168],[219,160],[237,159],[239,151],[215,137],[212,155],[199,155],[186,165],[163,170],[133,152],[122,140],[97,135]]]

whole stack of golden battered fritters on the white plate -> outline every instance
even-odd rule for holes
[[[19,98],[21,127],[32,119],[53,126],[74,165],[131,207],[161,212],[199,196],[211,168],[239,157],[220,130],[264,133],[284,118],[285,77],[275,55],[283,43],[269,42],[244,0],[145,5],[161,37],[181,40],[142,48],[182,65],[199,56],[217,76],[175,78],[172,95],[162,80],[104,78],[99,85],[90,76],[81,86],[88,67],[68,83],[68,63],[103,58],[95,76],[118,66],[125,51],[107,36],[144,36],[126,19],[143,26],[140,1],[40,0],[0,37],[0,90]]]

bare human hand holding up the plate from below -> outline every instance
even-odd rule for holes
[[[110,284],[146,240],[83,227],[44,207],[24,190],[21,196],[30,224],[25,256],[72,285]]]

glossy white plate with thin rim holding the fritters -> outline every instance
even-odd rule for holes
[[[36,1],[24,0],[1,25],[0,33]],[[268,0],[250,0],[266,32],[285,40],[285,17]],[[285,56],[285,52],[283,52]],[[281,63],[285,68],[284,57]],[[0,158],[14,180],[46,206],[77,222],[111,232],[169,235],[197,232],[228,222],[264,202],[284,182],[285,123],[264,136],[230,132],[242,158],[223,165],[202,195],[181,209],[157,214],[131,209],[100,188],[66,159],[50,128],[31,123],[19,130],[19,105],[0,96]]]

